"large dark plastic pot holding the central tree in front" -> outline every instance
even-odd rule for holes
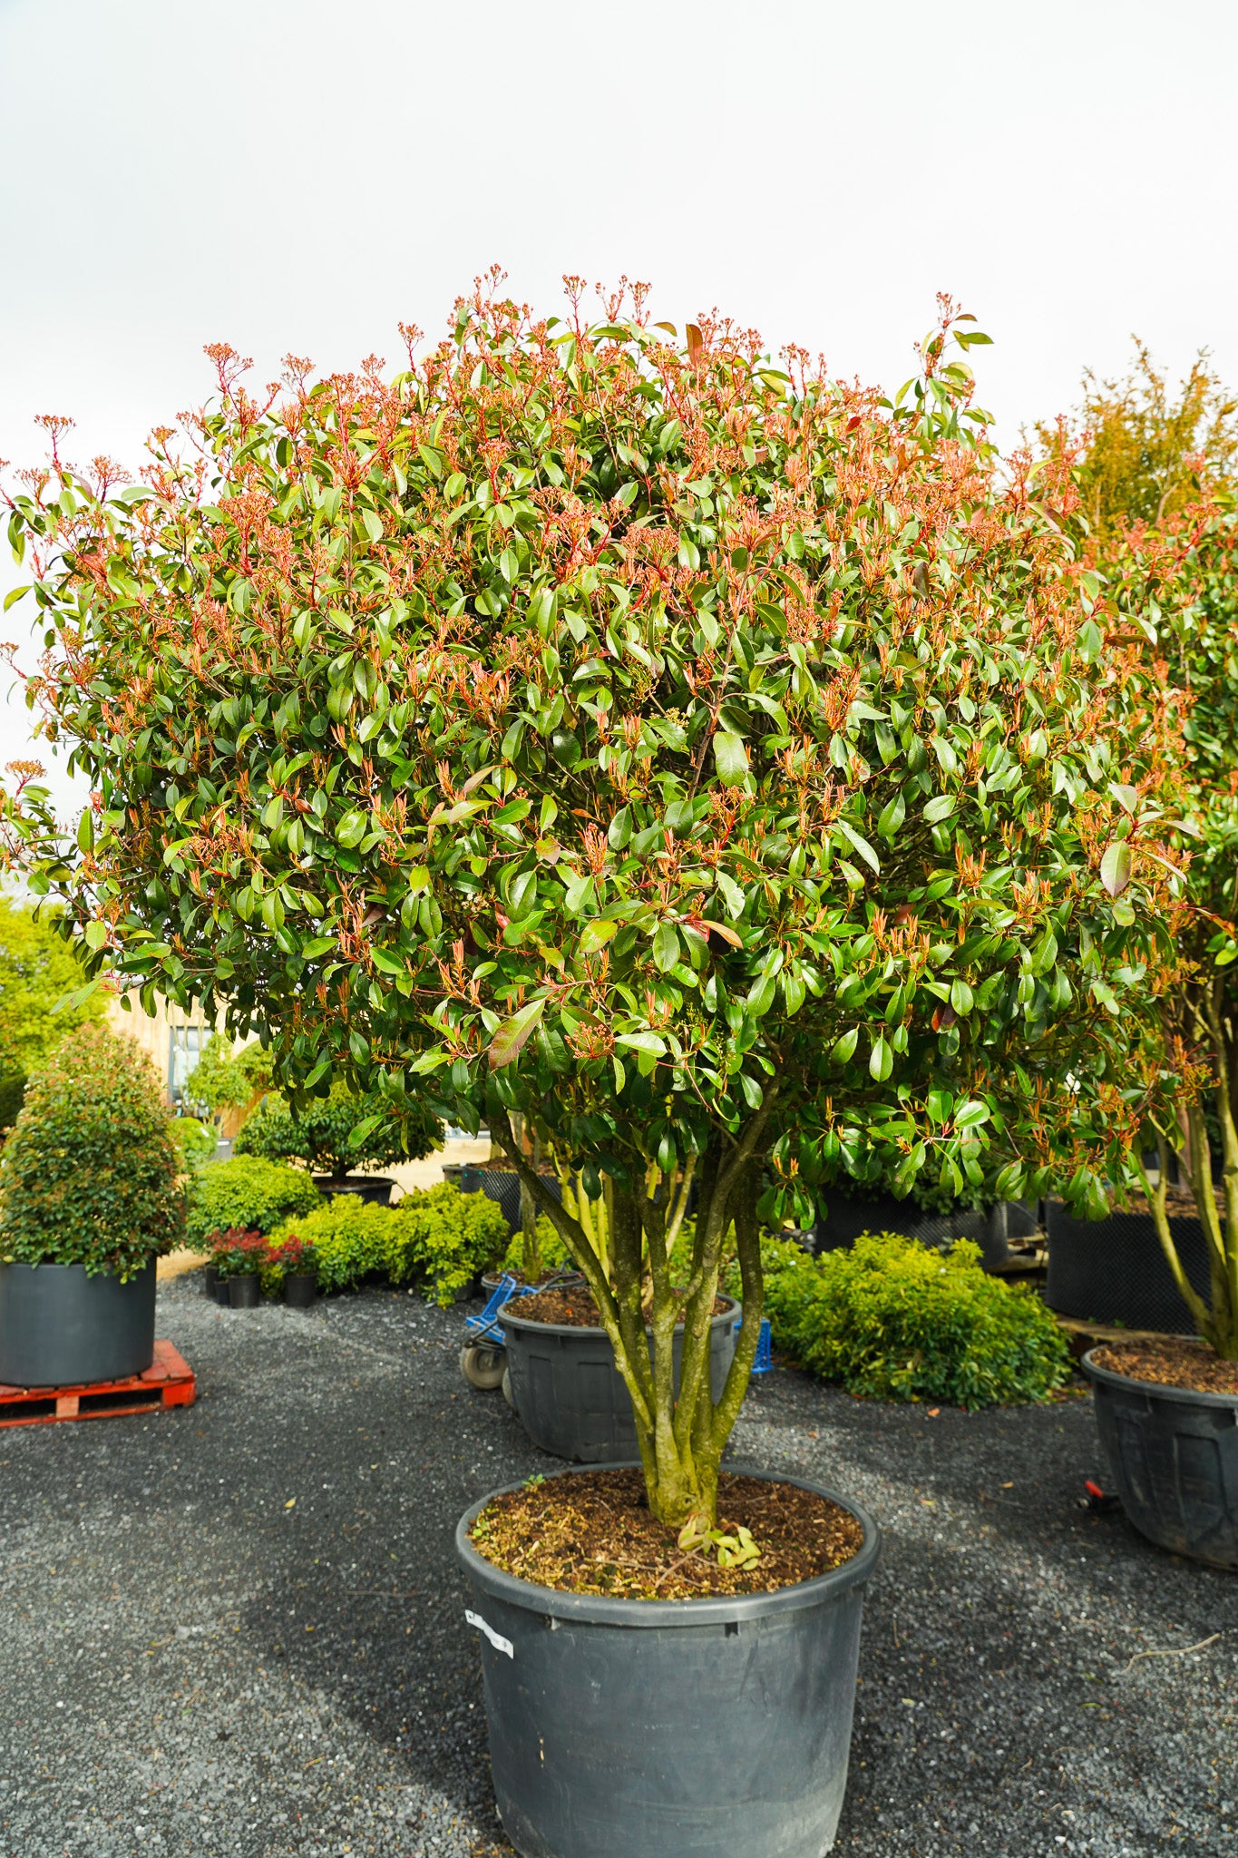
[[[826,1852],[846,1787],[863,1590],[880,1553],[872,1518],[846,1501],[863,1548],[798,1587],[613,1600],[535,1587],[484,1561],[468,1531],[488,1501],[462,1518],[457,1553],[471,1587],[466,1616],[481,1631],[494,1791],[516,1851]]]

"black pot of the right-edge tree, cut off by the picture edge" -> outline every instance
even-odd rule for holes
[[[1093,1356],[1082,1366],[1130,1522],[1158,1548],[1238,1572],[1238,1394],[1132,1380]]]

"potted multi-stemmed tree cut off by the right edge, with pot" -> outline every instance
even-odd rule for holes
[[[1097,1347],[1084,1366],[1127,1516],[1164,1548],[1238,1568],[1238,509],[1223,498],[1160,531],[1119,528],[1106,567],[1115,624],[1147,637],[1149,715],[1175,702],[1184,717],[1164,792],[1123,795],[1112,879],[1125,897],[1166,832],[1180,855],[1154,1053],[1184,1089],[1151,1119],[1156,1167],[1138,1145],[1127,1178],[1186,1315],[1173,1327],[1195,1336]]]

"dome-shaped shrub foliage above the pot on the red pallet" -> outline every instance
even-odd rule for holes
[[[184,1237],[180,1150],[154,1068],[84,1026],[28,1089],[0,1159],[0,1258],[123,1282]]]

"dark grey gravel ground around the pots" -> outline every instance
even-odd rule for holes
[[[195,1407],[0,1433],[0,1858],[509,1851],[453,1531],[551,1460],[466,1390],[460,1315],[180,1278]],[[1077,1507],[1086,1397],[930,1418],[780,1369],[735,1457],[885,1531],[839,1852],[1238,1847],[1238,1581]]]

